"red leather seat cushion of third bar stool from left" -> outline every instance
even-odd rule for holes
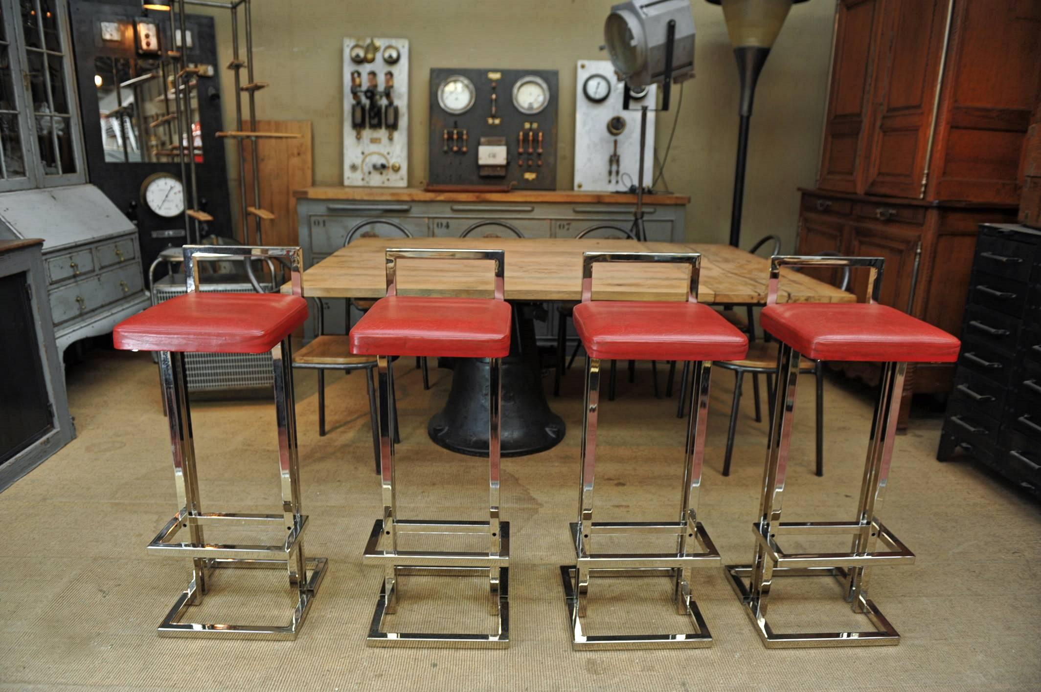
[[[592,301],[574,315],[591,358],[737,360],[748,351],[748,337],[701,303]]]

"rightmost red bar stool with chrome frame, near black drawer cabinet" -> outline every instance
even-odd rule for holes
[[[782,266],[867,267],[868,302],[777,304]],[[769,292],[760,322],[780,342],[773,420],[763,473],[755,561],[728,565],[732,586],[741,598],[760,639],[770,648],[898,644],[899,634],[867,597],[871,567],[910,564],[914,554],[878,517],[889,478],[889,465],[900,408],[907,364],[954,362],[960,341],[946,332],[899,310],[879,305],[884,260],[881,257],[784,257],[770,259]],[[883,363],[879,401],[871,421],[867,461],[857,515],[847,521],[781,521],[781,499],[788,467],[795,383],[801,356],[814,360]],[[781,534],[852,534],[848,553],[785,553]],[[879,543],[882,543],[880,548]],[[784,634],[766,620],[770,586],[779,576],[833,576],[855,613],[867,616],[874,630]]]

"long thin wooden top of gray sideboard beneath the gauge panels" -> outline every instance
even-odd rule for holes
[[[514,189],[509,193],[438,193],[416,187],[346,187],[316,185],[293,190],[298,200],[345,200],[354,202],[556,202],[564,204],[636,204],[635,195],[583,193],[565,189]],[[686,195],[644,195],[643,204],[687,205]]]

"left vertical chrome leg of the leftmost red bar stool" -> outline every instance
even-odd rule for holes
[[[187,370],[184,368],[184,354],[159,352],[159,379],[162,381],[162,393],[167,409],[167,422],[170,425],[170,446],[174,456],[174,487],[177,490],[177,502],[183,508],[189,528],[192,542],[202,545],[202,527],[198,516],[202,513],[199,499],[199,480],[196,476],[195,440],[192,436],[192,412],[188,409]],[[202,603],[206,593],[205,560],[192,560],[192,582],[188,585],[187,603]]]

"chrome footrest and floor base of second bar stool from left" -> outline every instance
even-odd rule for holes
[[[395,531],[399,534],[467,534],[488,535],[487,521],[446,521],[422,519],[396,519]],[[383,580],[380,595],[376,600],[376,612],[369,627],[369,646],[415,646],[427,648],[507,648],[510,645],[509,618],[509,560],[510,522],[499,523],[500,553],[459,553],[446,550],[398,550],[380,548],[384,531],[383,519],[377,519],[365,544],[363,561],[366,564],[381,564],[392,567],[391,593],[387,593],[387,580]],[[404,564],[402,564],[404,563]],[[499,579],[492,581],[492,571],[498,570]],[[498,616],[494,634],[469,633],[423,633],[383,632],[383,617],[392,612],[387,604],[396,604],[401,576],[477,576],[485,574],[489,580],[489,611]],[[397,608],[397,605],[393,606]]]

